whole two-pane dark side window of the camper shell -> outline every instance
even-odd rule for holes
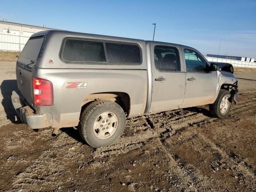
[[[60,58],[66,63],[140,65],[141,48],[136,43],[64,38]]]

